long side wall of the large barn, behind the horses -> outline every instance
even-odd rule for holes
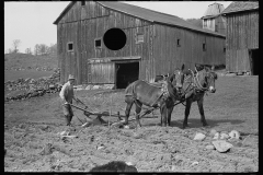
[[[181,46],[178,47],[178,39]],[[157,74],[181,68],[193,69],[195,63],[225,65],[225,37],[216,37],[179,27],[156,25],[155,62]],[[203,51],[206,43],[206,51]]]

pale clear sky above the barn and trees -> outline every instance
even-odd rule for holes
[[[201,19],[209,4],[215,1],[129,1],[125,3],[176,15],[182,19]],[[57,43],[57,25],[53,24],[70,1],[49,2],[4,2],[4,52],[20,39],[20,52],[34,50],[36,44]],[[231,1],[217,1],[227,8]]]

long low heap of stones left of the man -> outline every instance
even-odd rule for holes
[[[61,90],[59,83],[60,71],[56,69],[50,77],[35,79],[18,79],[15,81],[4,82],[4,90],[21,91],[15,96],[7,96],[4,102],[25,100],[34,96],[43,96],[46,93],[56,93]]]

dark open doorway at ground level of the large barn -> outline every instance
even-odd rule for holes
[[[139,79],[139,62],[116,63],[116,89],[126,89]]]

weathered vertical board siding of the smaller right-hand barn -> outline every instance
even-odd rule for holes
[[[259,48],[259,11],[227,14],[226,68],[250,71],[249,49]]]

